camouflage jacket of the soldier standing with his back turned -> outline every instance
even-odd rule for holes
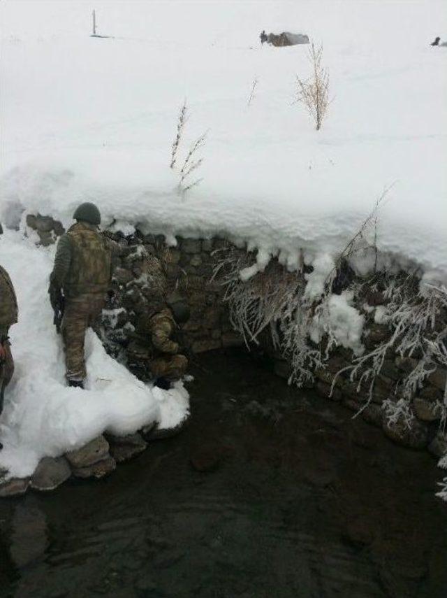
[[[77,222],[57,243],[50,283],[62,287],[66,297],[105,293],[112,278],[115,245],[98,227]]]

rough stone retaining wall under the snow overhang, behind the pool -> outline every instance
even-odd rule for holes
[[[37,232],[43,245],[54,242],[57,235],[63,231],[60,223],[49,217],[29,215],[27,225]],[[111,236],[126,248],[127,254],[117,264],[114,278],[115,294],[109,299],[108,311],[105,312],[108,339],[125,346],[126,327],[132,327],[134,323],[133,303],[144,301],[145,294],[150,295],[151,292],[150,285],[148,287],[142,274],[147,270],[147,264],[152,257],[157,257],[163,264],[170,289],[179,287],[189,299],[191,319],[184,327],[184,336],[193,353],[242,345],[241,336],[234,332],[230,325],[228,305],[223,302],[223,287],[219,282],[211,280],[215,266],[213,252],[223,245],[228,245],[225,240],[177,238],[177,246],[167,248],[163,236],[147,235],[138,231],[131,236],[119,233]],[[367,349],[371,349],[389,335],[390,330],[386,325],[369,321],[363,342]],[[268,334],[261,336],[260,346],[253,347],[253,350],[262,350],[269,355],[274,364],[274,371],[279,376],[290,376],[291,369],[287,360],[272,348]],[[443,401],[447,374],[445,369],[438,368],[434,371],[413,397],[414,418],[411,427],[404,422],[396,422],[390,426],[381,405],[387,397],[395,395],[400,382],[411,366],[414,366],[414,362],[409,358],[402,359],[397,355],[388,354],[374,385],[372,401],[365,407],[366,391],[358,392],[358,383],[349,379],[349,373],[338,376],[335,388],[330,392],[335,374],[350,366],[352,360],[351,350],[336,348],[332,351],[325,368],[314,371],[315,380],[311,386],[323,396],[342,402],[368,422],[381,426],[391,439],[404,446],[427,447],[437,456],[446,453],[447,438],[439,432],[440,415],[434,408],[435,404]]]

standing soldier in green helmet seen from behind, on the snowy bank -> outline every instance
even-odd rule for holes
[[[83,388],[85,332],[94,326],[105,303],[114,247],[98,230],[101,214],[94,204],[81,204],[73,218],[76,224],[59,239],[48,292],[53,307],[63,292],[66,378],[68,385]]]

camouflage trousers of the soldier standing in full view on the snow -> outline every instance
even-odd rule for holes
[[[87,328],[94,328],[104,302],[105,297],[102,293],[85,293],[66,299],[61,329],[68,380],[80,381],[87,376],[84,356],[85,332]]]

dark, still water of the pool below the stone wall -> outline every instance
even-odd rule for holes
[[[201,365],[182,434],[0,503],[2,597],[447,596],[429,455],[244,355]]]

